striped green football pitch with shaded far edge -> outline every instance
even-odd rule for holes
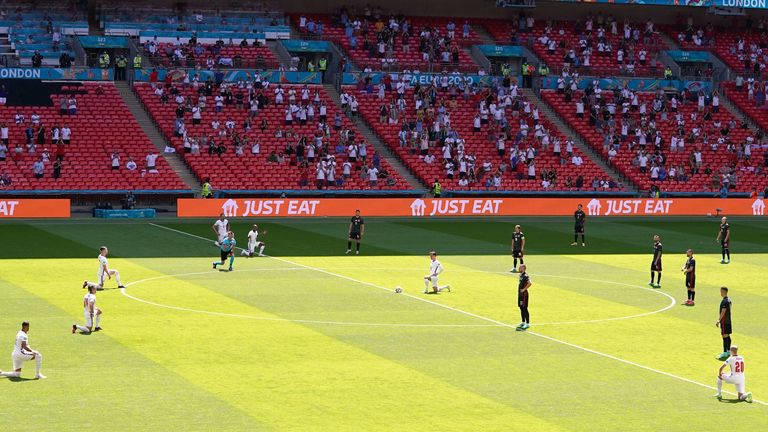
[[[728,265],[715,218],[591,218],[587,247],[570,246],[570,218],[367,218],[359,256],[344,254],[348,219],[231,222],[240,246],[258,222],[270,256],[213,270],[213,220],[0,222],[0,369],[29,320],[48,376],[32,379],[26,363],[21,379],[0,378],[0,430],[768,426],[760,219],[730,221]],[[516,223],[533,282],[525,332],[509,272]],[[661,289],[647,285],[654,234]],[[127,288],[109,281],[97,294],[103,331],[71,334],[101,245]],[[681,305],[688,248],[694,307]],[[432,249],[451,292],[422,293]],[[722,285],[752,404],[712,397]]]

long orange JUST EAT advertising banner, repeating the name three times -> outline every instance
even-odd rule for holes
[[[590,216],[764,216],[763,199],[718,198],[181,198],[179,217],[568,216],[578,204]]]

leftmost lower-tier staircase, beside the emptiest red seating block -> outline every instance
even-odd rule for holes
[[[178,153],[164,153],[165,150],[165,138],[163,138],[162,132],[157,128],[157,125],[144,109],[144,105],[139,100],[138,96],[131,89],[131,84],[127,81],[115,81],[115,87],[117,88],[120,97],[128,106],[128,109],[133,114],[136,121],[141,126],[141,129],[149,137],[152,144],[157,148],[158,153],[162,154],[168,165],[176,172],[185,185],[191,190],[197,191],[200,188],[200,180],[195,176],[187,164],[182,159],[182,156]]]

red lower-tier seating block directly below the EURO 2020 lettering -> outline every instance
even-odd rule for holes
[[[461,93],[451,97],[449,91],[436,87],[408,88],[402,102],[398,102],[394,88],[383,93],[369,93],[354,87],[346,90],[355,96],[360,113],[376,133],[426,184],[439,180],[448,190],[471,191],[578,191],[616,187],[610,175],[578,149],[574,148],[569,155],[566,138],[524,98],[514,102],[517,108],[512,105],[505,108],[501,104],[506,98],[497,101],[487,88],[477,94],[468,93],[467,97]],[[417,99],[421,101],[418,110]],[[510,104],[512,100],[510,97]],[[497,103],[500,106],[495,109]],[[498,115],[495,117],[491,110]],[[475,128],[476,115],[481,122],[478,129]],[[540,131],[534,115],[540,117],[543,126]],[[506,134],[502,132],[502,122],[508,125]],[[525,124],[524,133],[521,133],[522,124]],[[503,151],[499,150],[500,141]],[[560,152],[560,156],[556,152]],[[573,163],[574,156],[578,165]],[[466,183],[462,181],[465,177]],[[608,187],[600,187],[601,181]],[[593,187],[593,182],[598,186]]]

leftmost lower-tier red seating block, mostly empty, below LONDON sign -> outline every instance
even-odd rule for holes
[[[0,174],[11,180],[5,189],[187,189],[163,157],[157,156],[114,85],[60,86],[49,100],[37,106],[0,107],[0,122],[8,127],[7,155],[0,161]],[[76,113],[70,114],[75,106]],[[115,154],[118,168],[113,169]],[[151,154],[155,156],[148,161]],[[136,164],[133,170],[126,167],[131,159]],[[153,159],[156,169],[149,170]]]

